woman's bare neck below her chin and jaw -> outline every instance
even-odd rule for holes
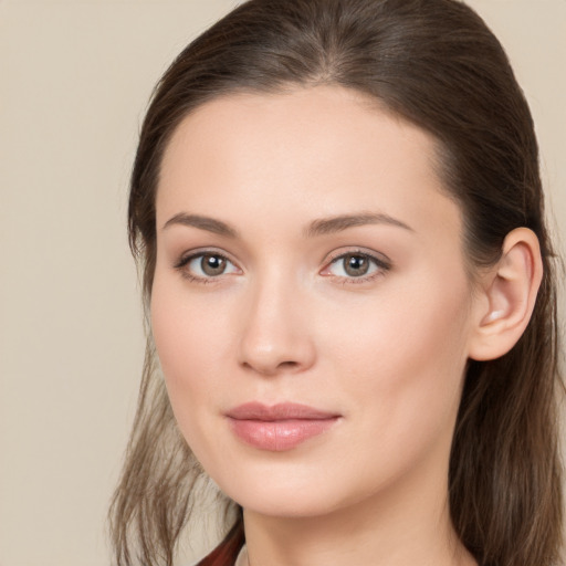
[[[249,566],[475,566],[450,521],[448,482],[422,480],[408,474],[390,489],[316,516],[244,510]]]

